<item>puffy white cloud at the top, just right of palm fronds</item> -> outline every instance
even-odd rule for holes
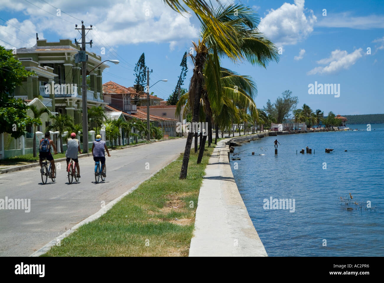
[[[261,19],[259,29],[277,46],[293,45],[308,37],[313,31],[316,16],[304,8],[304,0],[294,4],[284,3]]]

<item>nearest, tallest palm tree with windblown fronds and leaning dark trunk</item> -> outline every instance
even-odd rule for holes
[[[183,6],[179,1],[165,0],[165,2],[175,10],[182,11]],[[258,16],[252,9],[245,7],[243,4],[231,4],[227,7],[220,6],[217,10],[211,12],[213,10],[208,5],[204,5],[204,1],[183,0],[183,2],[199,16],[202,22],[202,39],[199,39],[197,44],[192,43],[196,55],[191,55],[195,68],[189,87],[189,100],[194,102],[192,122],[198,122],[200,97],[204,85],[203,68],[207,63],[207,57],[211,57],[208,56],[209,54],[213,55],[209,59],[212,61],[211,66],[216,66],[215,75],[220,77],[220,65],[217,64],[219,56],[226,56],[233,61],[247,59],[252,64],[265,67],[269,61],[278,60],[278,52],[277,48],[257,31],[257,25],[260,21]],[[203,12],[200,13],[201,11]],[[234,11],[237,13],[234,13]],[[220,89],[220,84],[216,83],[216,85]],[[211,95],[208,84],[207,92]],[[211,109],[214,112],[219,112],[215,108],[222,106],[219,104],[221,92],[219,91],[214,95],[216,97],[210,97],[209,99]],[[190,132],[185,145],[180,179],[187,177],[192,139],[193,133]]]

